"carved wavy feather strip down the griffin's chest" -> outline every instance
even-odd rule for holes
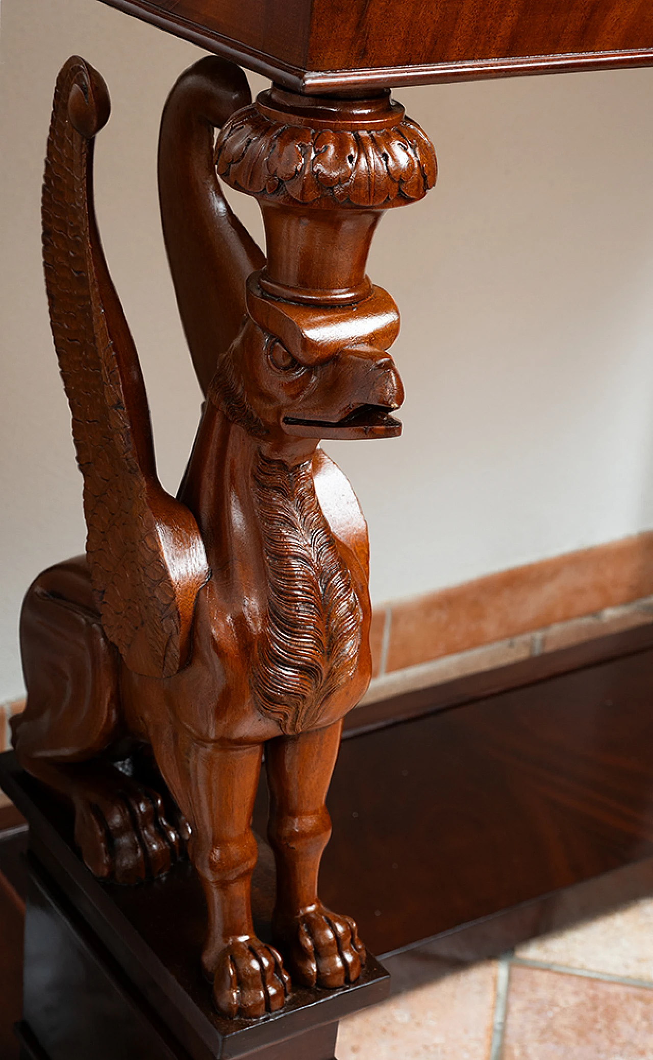
[[[293,735],[313,727],[354,676],[363,611],[311,461],[288,467],[258,452],[252,489],[269,581],[250,685],[258,709]]]

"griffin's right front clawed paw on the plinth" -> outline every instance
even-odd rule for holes
[[[295,917],[276,916],[272,930],[294,982],[333,988],[360,975],[365,947],[351,917],[319,904]]]

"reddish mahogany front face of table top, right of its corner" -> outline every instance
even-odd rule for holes
[[[398,14],[401,16],[398,19]],[[333,32],[337,23],[338,32]],[[647,0],[314,0],[307,67],[346,70],[518,64],[579,53],[653,49]],[[546,57],[546,58],[545,58]],[[625,56],[623,57],[625,59]],[[637,59],[636,55],[631,57]],[[639,56],[641,58],[641,56]],[[478,68],[477,68],[478,69]],[[506,72],[506,71],[504,71]]]

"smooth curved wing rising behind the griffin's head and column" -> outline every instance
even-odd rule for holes
[[[251,103],[245,74],[210,55],[167,98],[159,137],[159,199],[181,322],[202,392],[245,313],[247,277],[265,255],[220,191],[214,134]]]

